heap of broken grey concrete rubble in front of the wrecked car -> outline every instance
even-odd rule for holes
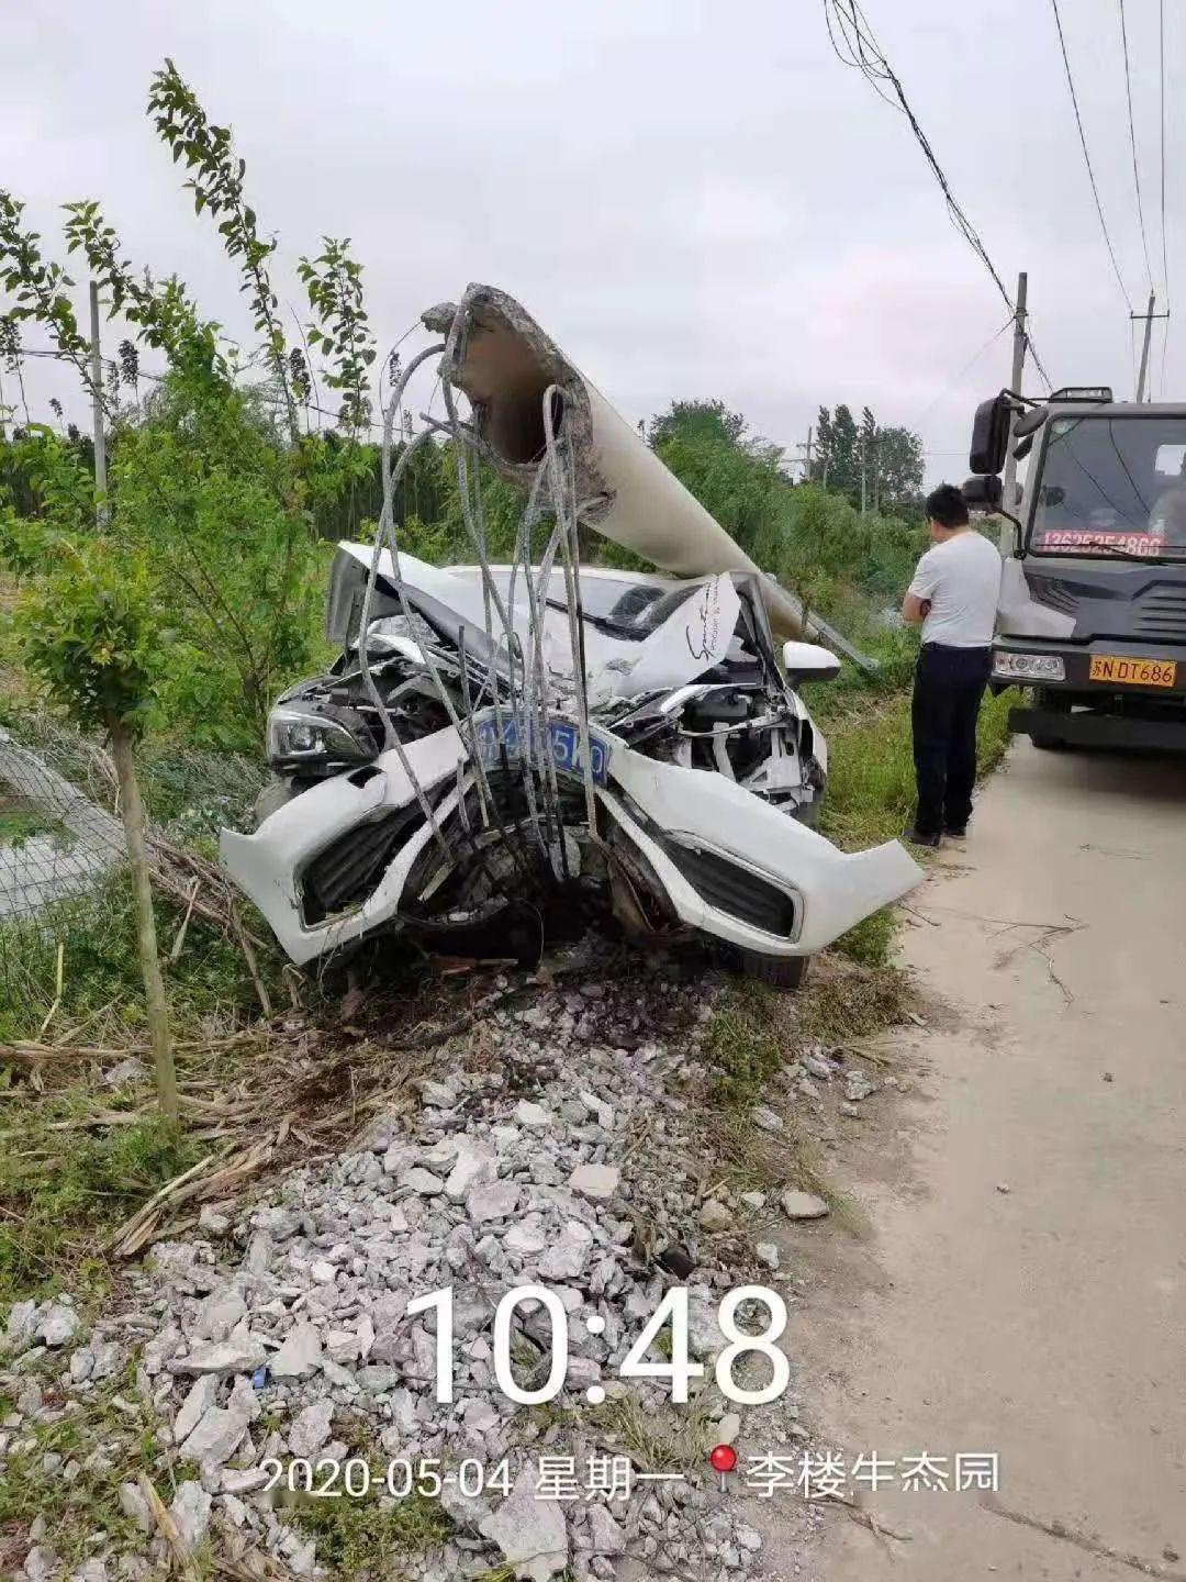
[[[672,1411],[666,1384],[617,1376],[677,1283],[659,1262],[666,1250],[691,1266],[680,1280],[689,1286],[701,1356],[724,1343],[716,1305],[727,1289],[767,1281],[797,1300],[778,1272],[789,1243],[780,1253],[772,1232],[781,1224],[794,1237],[788,1218],[822,1217],[827,1204],[802,1191],[734,1194],[721,1185],[702,1199],[693,1169],[696,1114],[680,1095],[713,992],[710,984],[689,997],[675,968],[658,967],[633,981],[588,982],[584,992],[544,989],[527,1011],[493,1012],[492,1057],[468,1065],[459,1057],[448,1081],[422,1085],[410,1115],[378,1118],[351,1152],[294,1171],[228,1218],[223,1236],[199,1229],[158,1243],[131,1272],[122,1307],[89,1334],[68,1297],[16,1304],[0,1387],[14,1394],[17,1411],[0,1425],[0,1476],[5,1454],[35,1443],[35,1425],[62,1410],[49,1405],[54,1378],[52,1398],[85,1402],[103,1380],[131,1368],[136,1383],[123,1395],[139,1405],[125,1402],[128,1432],[139,1432],[139,1411],[147,1411],[176,1459],[196,1468],[171,1506],[190,1547],[234,1530],[237,1542],[313,1576],[315,1546],[263,1492],[261,1462],[345,1459],[368,1443],[375,1462],[509,1462],[506,1498],[449,1490],[454,1530],[417,1561],[422,1582],[478,1577],[500,1565],[531,1582],[566,1568],[590,1582],[617,1576],[623,1557],[640,1577],[761,1576],[761,1539],[743,1520],[743,1501],[720,1497],[705,1459],[718,1441],[786,1444],[794,1395],[742,1414],[720,1395],[710,1368],[704,1444],[688,1482],[650,1485],[650,1493],[636,1485],[620,1504],[536,1500],[533,1487],[541,1452],[579,1463],[604,1454],[612,1444],[606,1414],[626,1397],[650,1421]],[[571,1319],[565,1389],[542,1421],[504,1398],[490,1345],[500,1296],[533,1283],[553,1288]],[[443,1286],[454,1291],[452,1405],[433,1398],[432,1315],[406,1315],[410,1299]],[[520,1310],[516,1335],[517,1368],[525,1356],[542,1359],[542,1315]],[[46,1357],[54,1357],[49,1376],[40,1372]],[[609,1397],[598,1411],[585,1400],[595,1386]],[[675,1411],[686,1421],[686,1410]],[[142,1565],[163,1560],[161,1538],[134,1482],[112,1489],[115,1504],[128,1519],[122,1531],[142,1535],[144,1547],[98,1546],[100,1555],[112,1582],[139,1582]],[[66,1573],[52,1552],[35,1546],[24,1577],[59,1576]]]

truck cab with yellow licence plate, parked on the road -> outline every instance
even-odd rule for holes
[[[1009,723],[1044,748],[1186,750],[1186,407],[1096,388],[1018,408],[977,410],[965,484],[1012,524],[991,687],[1029,698]],[[1006,501],[1009,445],[1028,473]]]

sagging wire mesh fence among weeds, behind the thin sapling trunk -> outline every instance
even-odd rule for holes
[[[139,770],[161,952],[180,957],[193,929],[195,959],[180,965],[177,982],[213,968],[229,984],[218,957],[232,941],[236,971],[242,967],[242,924],[213,846],[220,826],[248,824],[263,769],[234,755],[153,747]],[[199,925],[223,940],[199,938]],[[85,1016],[89,1036],[112,1024],[127,1031],[139,1003],[114,764],[101,742],[30,715],[0,729],[0,1041],[40,1038],[55,1014],[59,1024]]]

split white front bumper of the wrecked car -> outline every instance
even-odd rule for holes
[[[898,842],[838,851],[723,775],[661,763],[599,734],[610,751],[598,799],[688,929],[765,956],[811,956],[922,880]],[[405,751],[425,791],[455,782],[468,756],[454,729],[410,742]],[[457,796],[454,786],[435,800],[438,819],[451,815]],[[315,960],[397,918],[408,873],[433,834],[421,823],[361,905],[319,921],[304,916],[304,869],[351,829],[413,800],[398,755],[383,753],[365,770],[304,791],[251,835],[225,831],[223,865],[288,956]]]

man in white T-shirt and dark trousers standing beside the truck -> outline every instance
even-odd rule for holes
[[[903,834],[917,846],[968,832],[976,785],[976,721],[993,663],[1001,557],[974,533],[954,484],[927,495],[933,547],[919,560],[903,619],[922,623],[914,671],[914,775],[919,805]]]

